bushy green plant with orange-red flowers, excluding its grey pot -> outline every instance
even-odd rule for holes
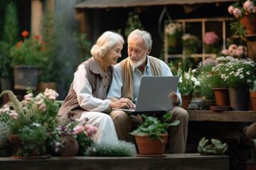
[[[40,37],[35,35],[33,38],[27,38],[29,33],[24,30],[21,35],[24,40],[19,41],[17,45],[11,47],[11,66],[16,65],[37,65],[40,66],[45,62],[44,51],[46,50],[45,43],[39,42]]]

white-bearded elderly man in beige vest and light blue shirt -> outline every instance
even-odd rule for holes
[[[144,30],[134,30],[128,37],[127,59],[114,66],[113,80],[107,98],[115,101],[129,98],[136,103],[142,76],[172,76],[168,65],[156,57],[149,56],[152,48],[151,35]],[[149,85],[150,86],[150,85]],[[150,91],[149,91],[150,93]],[[188,134],[188,112],[181,108],[181,94],[177,90],[169,94],[174,107],[171,109],[173,120],[181,120],[177,126],[169,129],[169,152],[186,152]],[[133,106],[127,106],[133,107]],[[124,111],[114,110],[110,113],[114,121],[119,140],[134,142],[129,132],[132,130],[132,118]]]

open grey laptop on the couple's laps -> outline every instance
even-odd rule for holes
[[[170,111],[173,107],[168,97],[176,92],[179,77],[142,77],[135,108],[113,108],[127,112]]]

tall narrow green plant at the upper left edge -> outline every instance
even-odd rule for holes
[[[3,40],[0,42],[0,72],[1,77],[11,76],[10,49],[18,41],[18,14],[16,4],[7,4],[4,17]]]

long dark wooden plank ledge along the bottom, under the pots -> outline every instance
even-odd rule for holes
[[[166,170],[229,169],[228,156],[166,154],[166,157],[51,157],[49,159],[11,159],[0,157],[1,170]]]

